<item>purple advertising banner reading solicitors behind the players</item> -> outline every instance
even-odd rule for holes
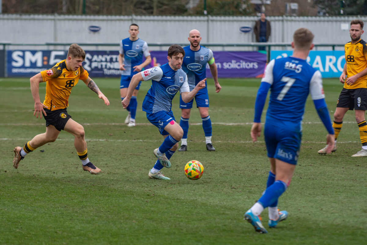
[[[262,78],[266,65],[266,54],[259,52],[213,51],[218,78]],[[152,66],[166,64],[167,51],[151,51]],[[211,78],[209,65],[206,74]]]

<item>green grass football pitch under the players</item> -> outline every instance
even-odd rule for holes
[[[142,83],[137,126],[128,128],[119,79],[94,80],[111,104],[79,82],[68,112],[84,126],[89,159],[103,171],[97,176],[83,171],[65,131],[14,169],[12,149],[44,133],[45,122],[33,116],[29,79],[0,79],[0,244],[366,244],[367,159],[350,157],[361,147],[354,112],[344,118],[337,152],[319,155],[327,132],[308,98],[298,166],[279,200],[289,217],[258,234],[243,214],[269,171],[263,136],[257,143],[250,137],[260,79],[219,79],[219,94],[208,80],[216,151],[206,150],[194,108],[188,151],[176,152],[172,168],[163,169],[170,181],[148,179],[153,149],[163,140],[141,110],[151,83]],[[41,83],[42,101],[44,89]],[[324,79],[331,118],[341,89],[338,79]],[[178,102],[177,95],[172,111],[179,122]],[[190,160],[204,165],[200,180],[185,177]],[[262,220],[267,227],[267,209]]]

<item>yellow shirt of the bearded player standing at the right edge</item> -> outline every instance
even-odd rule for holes
[[[367,68],[367,43],[362,39],[352,44],[351,42],[344,45],[346,75],[347,78],[356,75]],[[367,88],[367,75],[357,79],[352,85],[344,83],[345,89]]]

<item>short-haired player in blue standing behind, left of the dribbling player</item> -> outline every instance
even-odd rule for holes
[[[121,101],[126,97],[127,88],[133,75],[142,71],[142,69],[150,64],[152,59],[148,50],[148,44],[138,38],[139,26],[131,24],[129,27],[130,37],[121,40],[119,50],[119,64],[121,73],[120,80],[120,96]],[[143,62],[143,55],[145,61]],[[137,95],[141,81],[132,94],[130,105],[126,108],[129,114],[125,119],[128,127],[135,126],[135,115],[137,111]]]

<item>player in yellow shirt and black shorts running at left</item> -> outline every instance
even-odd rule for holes
[[[92,91],[98,94],[105,105],[109,105],[108,98],[98,89],[95,82],[89,77],[88,72],[81,66],[86,58],[86,53],[77,44],[69,47],[66,60],[58,62],[54,67],[47,71],[41,71],[30,78],[30,89],[34,99],[34,113],[36,118],[42,114],[46,120],[46,133],[38,134],[28,141],[23,147],[14,148],[14,168],[18,168],[19,162],[31,151],[46,143],[54,142],[60,131],[65,130],[72,134],[74,147],[82,162],[83,169],[98,174],[101,169],[94,166],[88,159],[87,143],[84,139],[84,128],[79,123],[71,119],[66,111],[68,99],[72,88],[82,80]],[[46,82],[46,96],[43,103],[39,96],[39,83]]]

